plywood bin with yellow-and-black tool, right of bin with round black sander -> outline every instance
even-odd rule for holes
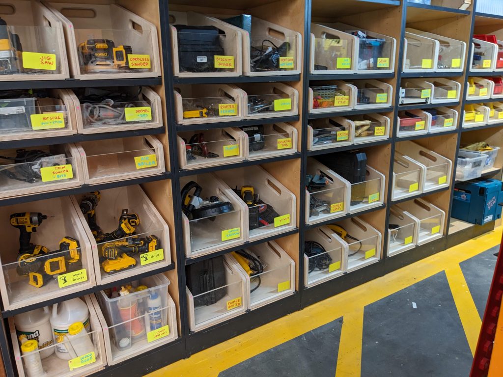
[[[264,168],[252,165],[220,170],[215,174],[232,189],[240,190],[242,186],[253,186],[254,194],[259,196],[259,204],[248,207],[235,193],[232,193],[244,205],[243,233],[248,241],[271,237],[295,228],[297,209],[295,195]],[[265,210],[264,205],[267,205]],[[266,211],[271,212],[267,214]]]

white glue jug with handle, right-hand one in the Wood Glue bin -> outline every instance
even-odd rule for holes
[[[75,322],[82,322],[86,330],[90,332],[89,309],[85,302],[76,298],[52,306],[51,326],[56,344],[56,356],[60,359],[72,359],[72,355],[63,342],[68,342],[66,337],[68,328]]]

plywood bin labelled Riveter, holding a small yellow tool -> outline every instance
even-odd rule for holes
[[[176,85],[176,122],[184,125],[242,120],[243,93],[235,85]]]

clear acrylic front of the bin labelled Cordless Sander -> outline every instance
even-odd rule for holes
[[[152,72],[150,30],[74,29],[80,74]]]

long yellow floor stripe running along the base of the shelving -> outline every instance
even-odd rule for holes
[[[502,230],[503,227],[498,227],[481,237],[451,247],[301,311],[248,331],[198,352],[189,359],[165,366],[149,374],[149,377],[216,377],[222,370],[341,318],[346,313],[364,308],[443,271],[447,266],[458,264],[498,245]]]

